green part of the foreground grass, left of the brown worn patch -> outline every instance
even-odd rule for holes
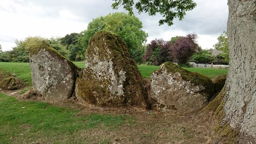
[[[79,139],[84,131],[114,131],[132,122],[125,115],[79,116],[78,112],[44,102],[19,101],[0,93],[0,143],[32,143],[40,139],[49,143],[86,143],[86,139]]]

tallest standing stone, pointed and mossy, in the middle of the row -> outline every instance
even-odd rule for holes
[[[148,108],[145,81],[121,38],[100,31],[91,37],[76,97],[100,107]]]

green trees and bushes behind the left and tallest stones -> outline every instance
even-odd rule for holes
[[[145,52],[145,44],[148,34],[142,30],[142,22],[134,15],[126,13],[113,13],[105,17],[93,19],[87,29],[81,33],[67,34],[65,37],[45,38],[54,49],[71,61],[82,61],[85,59],[85,52],[89,39],[98,31],[110,31],[120,36],[133,59],[141,61]],[[25,50],[26,40],[16,40],[17,46],[11,51],[0,51],[0,61],[5,62],[28,62],[28,52]]]

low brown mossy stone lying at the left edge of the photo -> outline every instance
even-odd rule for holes
[[[13,76],[6,77],[0,82],[0,88],[3,90],[17,90],[23,85],[22,81]]]

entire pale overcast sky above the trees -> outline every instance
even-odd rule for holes
[[[15,46],[14,40],[28,36],[63,37],[80,33],[88,23],[101,15],[114,12],[112,0],[0,0],[0,44],[4,51]],[[174,36],[196,33],[198,44],[203,49],[213,48],[217,38],[227,29],[227,0],[194,0],[197,6],[187,12],[185,19],[174,20],[173,26],[158,25],[160,15],[145,13],[136,17],[148,33],[148,42],[155,38],[170,40]]]

